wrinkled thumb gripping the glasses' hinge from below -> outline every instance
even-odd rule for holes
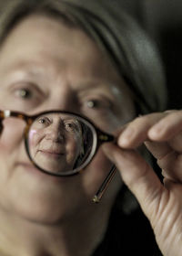
[[[103,150],[116,165],[147,217],[155,216],[164,187],[153,169],[134,150],[121,150],[114,144],[105,144]]]

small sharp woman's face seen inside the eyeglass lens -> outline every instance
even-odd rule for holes
[[[52,173],[71,171],[83,151],[80,123],[71,116],[39,116],[29,132],[29,150],[36,165]]]

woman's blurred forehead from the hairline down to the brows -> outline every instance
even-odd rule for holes
[[[28,16],[9,34],[0,49],[2,72],[34,79],[68,72],[80,87],[124,83],[85,32],[46,16]]]

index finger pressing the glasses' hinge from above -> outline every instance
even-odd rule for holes
[[[148,130],[166,114],[157,112],[137,117],[128,123],[124,132],[118,136],[118,145],[123,148],[136,148],[148,139]]]

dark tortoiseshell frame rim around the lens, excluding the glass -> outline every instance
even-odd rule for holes
[[[37,117],[39,117],[40,115],[43,114],[47,114],[47,113],[63,113],[63,114],[71,114],[77,118],[79,118],[79,120],[81,120],[83,123],[86,123],[86,125],[91,128],[91,131],[93,133],[93,141],[94,141],[94,147],[92,148],[92,151],[89,155],[89,157],[86,159],[86,162],[84,162],[83,165],[80,165],[78,168],[76,168],[73,171],[69,171],[66,173],[51,173],[46,171],[45,169],[41,168],[39,165],[36,165],[34,159],[32,158],[32,156],[30,155],[30,151],[29,151],[29,144],[28,144],[28,133],[29,130],[31,128],[32,123],[34,123],[35,119]],[[25,121],[25,130],[24,130],[24,140],[25,140],[25,151],[26,154],[28,155],[31,163],[33,165],[35,165],[36,168],[38,168],[40,171],[42,171],[43,173],[50,175],[50,176],[75,176],[81,172],[84,171],[84,169],[86,168],[87,165],[89,165],[89,163],[92,161],[92,159],[94,158],[94,156],[96,155],[96,152],[99,148],[99,146],[103,143],[107,143],[107,142],[114,142],[115,141],[115,136],[106,132],[101,131],[98,127],[96,127],[96,124],[94,124],[91,120],[89,120],[85,115],[81,115],[78,114],[76,112],[68,112],[68,111],[62,111],[62,110],[49,110],[49,111],[44,111],[44,112],[38,112],[36,114],[30,115],[30,114],[26,114],[25,112],[16,112],[16,111],[11,111],[11,110],[5,110],[2,111],[0,110],[0,126],[3,122],[3,120],[5,118],[8,117],[15,117],[15,118],[19,118],[23,121]],[[3,128],[2,128],[3,130]]]

